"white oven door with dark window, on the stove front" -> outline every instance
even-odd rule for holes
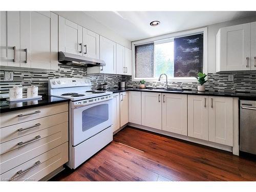
[[[110,127],[112,99],[72,109],[72,145],[93,137]]]

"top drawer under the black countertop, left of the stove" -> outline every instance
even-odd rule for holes
[[[0,114],[1,122],[0,127],[14,125],[34,119],[63,113],[68,111],[68,103],[57,103],[46,106],[39,106],[37,108],[18,110],[14,112],[8,112]]]

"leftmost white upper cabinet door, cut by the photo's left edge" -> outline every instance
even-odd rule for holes
[[[19,67],[19,11],[1,11],[0,66]]]

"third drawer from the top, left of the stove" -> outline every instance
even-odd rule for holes
[[[17,148],[17,143],[27,141],[27,139],[35,138],[40,135],[39,140],[25,144]],[[26,138],[26,139],[25,139]],[[52,148],[68,141],[68,122],[52,126],[48,129],[35,132],[24,137],[20,137],[0,145],[0,174],[7,172]],[[13,149],[10,151],[10,149]],[[9,151],[9,152],[8,152]],[[7,153],[6,153],[7,152]]]

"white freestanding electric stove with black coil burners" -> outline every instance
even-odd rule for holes
[[[86,78],[49,79],[49,95],[70,99],[67,165],[73,169],[113,140],[112,92],[91,87]]]

